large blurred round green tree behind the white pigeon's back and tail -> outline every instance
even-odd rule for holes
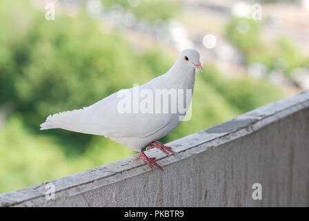
[[[27,59],[14,89],[19,110],[34,124],[39,124],[34,118],[41,122],[50,113],[88,106],[149,74],[143,64],[137,68],[137,55],[118,35],[106,35],[94,21],[81,19],[38,23],[27,48],[21,48]]]

